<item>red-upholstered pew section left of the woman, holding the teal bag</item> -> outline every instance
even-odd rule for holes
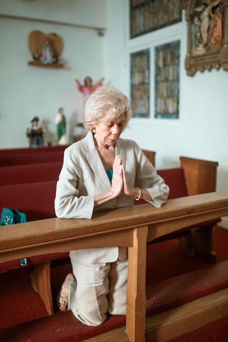
[[[0,207],[17,208],[26,214],[28,222],[56,217],[54,209],[56,183],[57,181],[54,180],[0,186]],[[12,226],[6,227],[11,230]],[[32,258],[28,258],[28,255],[24,254],[22,257],[27,259],[27,266],[33,265],[31,284],[33,289],[39,292],[49,314],[53,313],[50,262],[68,256],[69,252],[66,251],[64,253],[48,252],[44,255],[38,253]],[[25,267],[21,265],[20,258],[4,263],[0,262],[0,272],[19,267]],[[44,274],[45,276],[43,276]]]

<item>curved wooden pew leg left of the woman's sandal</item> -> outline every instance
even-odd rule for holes
[[[30,274],[32,288],[39,293],[49,315],[53,314],[50,261],[35,264]]]

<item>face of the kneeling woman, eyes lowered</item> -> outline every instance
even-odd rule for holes
[[[114,146],[125,127],[125,114],[122,113],[118,119],[110,121],[104,118],[95,126],[95,138],[102,145]]]

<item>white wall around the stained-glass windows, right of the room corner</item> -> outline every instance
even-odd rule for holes
[[[114,85],[118,85],[128,96],[131,52],[149,48],[151,56],[150,118],[132,119],[130,129],[122,136],[135,140],[141,148],[156,151],[158,169],[178,166],[179,156],[218,161],[217,190],[228,190],[228,72],[220,69],[197,73],[193,77],[186,75],[187,25],[184,11],[181,23],[129,39],[128,1],[108,0],[107,27],[104,70]],[[155,119],[154,48],[177,39],[180,40],[179,119]],[[107,61],[111,61],[109,67]]]

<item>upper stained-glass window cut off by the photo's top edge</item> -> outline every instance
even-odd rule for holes
[[[130,37],[182,21],[182,0],[130,0]]]

